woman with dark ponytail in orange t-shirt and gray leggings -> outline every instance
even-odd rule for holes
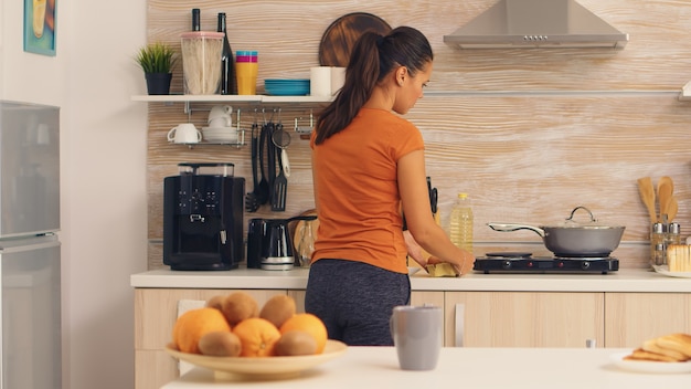
[[[311,137],[319,231],[305,307],[351,346],[392,345],[392,309],[410,303],[401,210],[423,249],[461,274],[472,266],[434,221],[422,135],[398,116],[423,96],[432,62],[415,29],[363,34]]]

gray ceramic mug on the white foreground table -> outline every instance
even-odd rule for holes
[[[442,350],[442,308],[396,306],[391,315],[391,336],[403,370],[433,370]]]

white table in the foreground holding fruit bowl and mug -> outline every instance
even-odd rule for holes
[[[433,371],[398,368],[393,347],[349,347],[338,359],[299,377],[277,381],[216,381],[211,370],[194,368],[163,389],[365,389],[365,388],[530,388],[651,389],[691,388],[691,374],[621,370],[612,348],[444,348]]]

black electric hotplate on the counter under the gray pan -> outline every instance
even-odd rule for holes
[[[487,253],[475,259],[472,270],[490,273],[583,273],[607,274],[619,270],[619,260],[612,256],[562,257],[538,256],[532,253],[500,252]]]

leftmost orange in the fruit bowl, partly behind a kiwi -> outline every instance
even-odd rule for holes
[[[230,332],[231,325],[216,308],[191,309],[178,317],[173,325],[173,343],[182,353],[201,354],[199,339],[213,332]]]

